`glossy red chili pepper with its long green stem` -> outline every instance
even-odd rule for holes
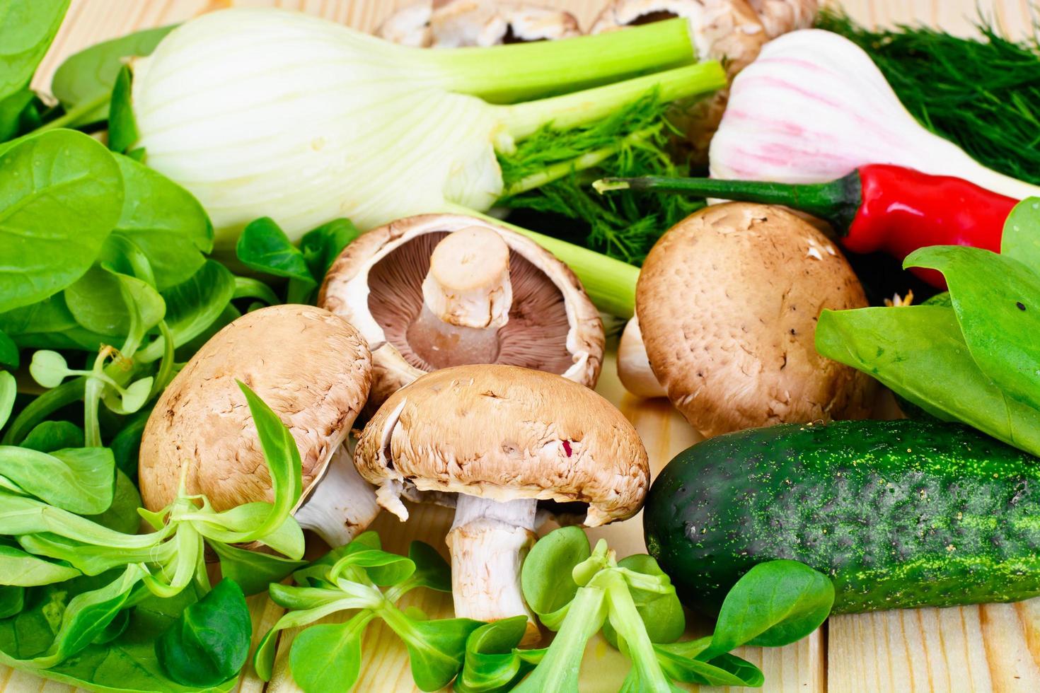
[[[785,205],[828,221],[853,252],[883,251],[903,260],[929,245],[1000,251],[1004,222],[1017,199],[951,176],[889,164],[860,166],[829,183],[791,185],[707,178],[604,179],[601,190],[665,190]],[[945,288],[934,270],[913,270]]]

